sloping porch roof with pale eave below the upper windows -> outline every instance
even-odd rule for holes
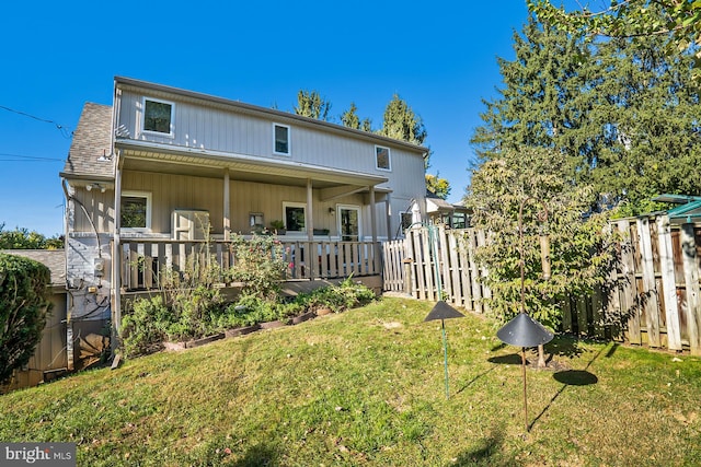
[[[122,150],[123,167],[134,171],[217,178],[222,176],[225,168],[229,168],[233,179],[294,186],[304,186],[307,179],[312,179],[315,188],[370,187],[388,182],[388,178],[375,174],[131,139],[118,138],[115,148]]]

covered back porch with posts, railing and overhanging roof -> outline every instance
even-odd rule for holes
[[[156,289],[163,271],[184,271],[188,261],[216,260],[227,270],[235,261],[233,233],[272,231],[269,221],[280,218],[294,227],[278,235],[288,280],[381,272],[379,242],[392,229],[390,190],[378,187],[384,177],[136,140],[117,139],[115,148],[111,276],[117,310],[120,293]],[[145,227],[125,227],[123,197],[147,191]],[[184,208],[206,212],[207,225],[183,227],[175,213]],[[348,217],[354,210],[357,219]],[[290,213],[302,213],[297,225],[290,225]]]

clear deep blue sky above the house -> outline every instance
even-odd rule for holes
[[[498,7],[497,7],[498,5]],[[129,77],[291,110],[317,90],[338,116],[355,102],[379,127],[399,94],[418,114],[429,173],[462,198],[469,140],[513,58],[525,1],[131,1],[3,4],[0,223],[62,233],[59,172],[85,102]],[[58,128],[60,126],[61,128]]]

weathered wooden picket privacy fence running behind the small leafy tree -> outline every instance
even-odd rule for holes
[[[611,227],[622,234],[616,268],[591,296],[566,301],[562,330],[701,354],[701,224],[657,215]],[[473,229],[412,229],[383,244],[383,289],[483,313],[491,292],[479,280],[487,271],[474,250],[484,242]]]

